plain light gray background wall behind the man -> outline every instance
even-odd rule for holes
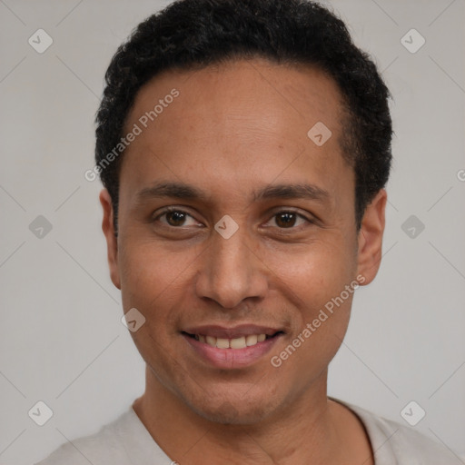
[[[143,392],[143,361],[108,276],[101,185],[84,172],[106,66],[167,3],[0,0],[2,464],[42,459]],[[331,5],[383,70],[396,135],[381,271],[356,293],[330,394],[402,423],[416,401],[426,416],[414,428],[463,453],[465,2]],[[39,28],[54,41],[43,54],[28,44]],[[414,54],[401,44],[411,28],[426,39]],[[38,215],[52,225],[42,238],[29,228]],[[424,231],[417,220],[402,230],[411,215]],[[54,411],[42,427],[28,416],[37,401]]]

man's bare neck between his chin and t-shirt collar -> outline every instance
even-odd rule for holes
[[[341,404],[327,399],[326,379],[324,371],[305,397],[290,401],[260,423],[232,425],[195,413],[147,367],[145,392],[133,407],[153,440],[180,464],[351,463],[348,449],[353,455],[359,446],[356,454],[363,457],[359,463],[368,465],[369,450],[360,448],[360,421],[359,436],[354,436],[353,414],[348,416]],[[351,437],[344,426],[351,427]]]

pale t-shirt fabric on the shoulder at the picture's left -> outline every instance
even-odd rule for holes
[[[133,408],[90,436],[68,440],[35,465],[164,465],[163,453]]]

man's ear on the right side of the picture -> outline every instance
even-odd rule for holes
[[[360,281],[363,285],[372,282],[380,268],[387,198],[386,191],[381,189],[367,206],[361,220],[357,272],[365,278]]]

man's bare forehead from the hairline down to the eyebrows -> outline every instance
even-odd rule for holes
[[[226,176],[242,185],[306,171],[328,177],[329,164],[338,172],[345,163],[342,108],[337,85],[311,66],[253,59],[167,71],[136,95],[124,134],[134,124],[141,134],[125,150],[122,177],[147,183],[150,167],[163,178],[195,181],[203,170],[212,183]],[[324,144],[312,139],[314,127],[331,134]]]

